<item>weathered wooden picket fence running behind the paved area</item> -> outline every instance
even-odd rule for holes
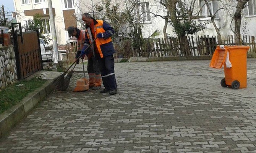
[[[256,44],[255,37],[244,35],[241,36],[243,45],[250,46],[248,51],[249,54],[256,53]],[[117,53],[115,54],[116,58],[129,58],[129,57],[165,57],[165,56],[200,56],[200,55],[212,55],[215,51],[215,48],[218,44],[221,45],[235,45],[235,40],[233,35],[222,36],[222,41],[218,43],[217,36],[198,36],[187,37],[188,43],[190,46],[190,51],[184,53],[181,50],[180,46],[183,45],[180,43],[180,40],[177,37],[171,38],[146,38],[144,42],[141,43],[140,49],[134,49],[131,46],[127,46],[127,43],[124,48],[117,47],[115,49]],[[131,42],[131,41],[130,41]]]

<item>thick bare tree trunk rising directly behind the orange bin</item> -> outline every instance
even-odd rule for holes
[[[237,0],[237,10],[234,14],[234,20],[235,20],[235,45],[241,45],[241,38],[240,38],[240,29],[241,29],[241,11],[245,8],[245,4],[249,0]]]

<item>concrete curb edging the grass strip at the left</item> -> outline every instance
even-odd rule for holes
[[[41,88],[31,92],[5,113],[0,115],[0,138],[5,136],[38,102],[41,102],[52,91],[53,80],[47,80]]]

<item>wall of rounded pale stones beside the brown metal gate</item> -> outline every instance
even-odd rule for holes
[[[0,90],[17,81],[16,59],[13,45],[0,48]]]

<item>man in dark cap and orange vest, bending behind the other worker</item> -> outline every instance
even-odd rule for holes
[[[86,37],[86,31],[85,30],[80,30],[76,27],[70,26],[68,27],[68,36],[71,37],[76,37],[78,41],[78,51],[76,53],[76,60],[77,63],[79,63],[79,55],[81,54],[81,49],[84,46],[84,41]],[[95,57],[92,56],[92,49],[88,50],[88,53],[86,54],[88,58],[87,62],[87,71],[89,74],[89,86],[92,88],[92,90],[98,90],[101,88],[101,75],[100,75],[100,70],[99,70],[99,62],[95,60]],[[84,58],[85,55],[82,56]]]

